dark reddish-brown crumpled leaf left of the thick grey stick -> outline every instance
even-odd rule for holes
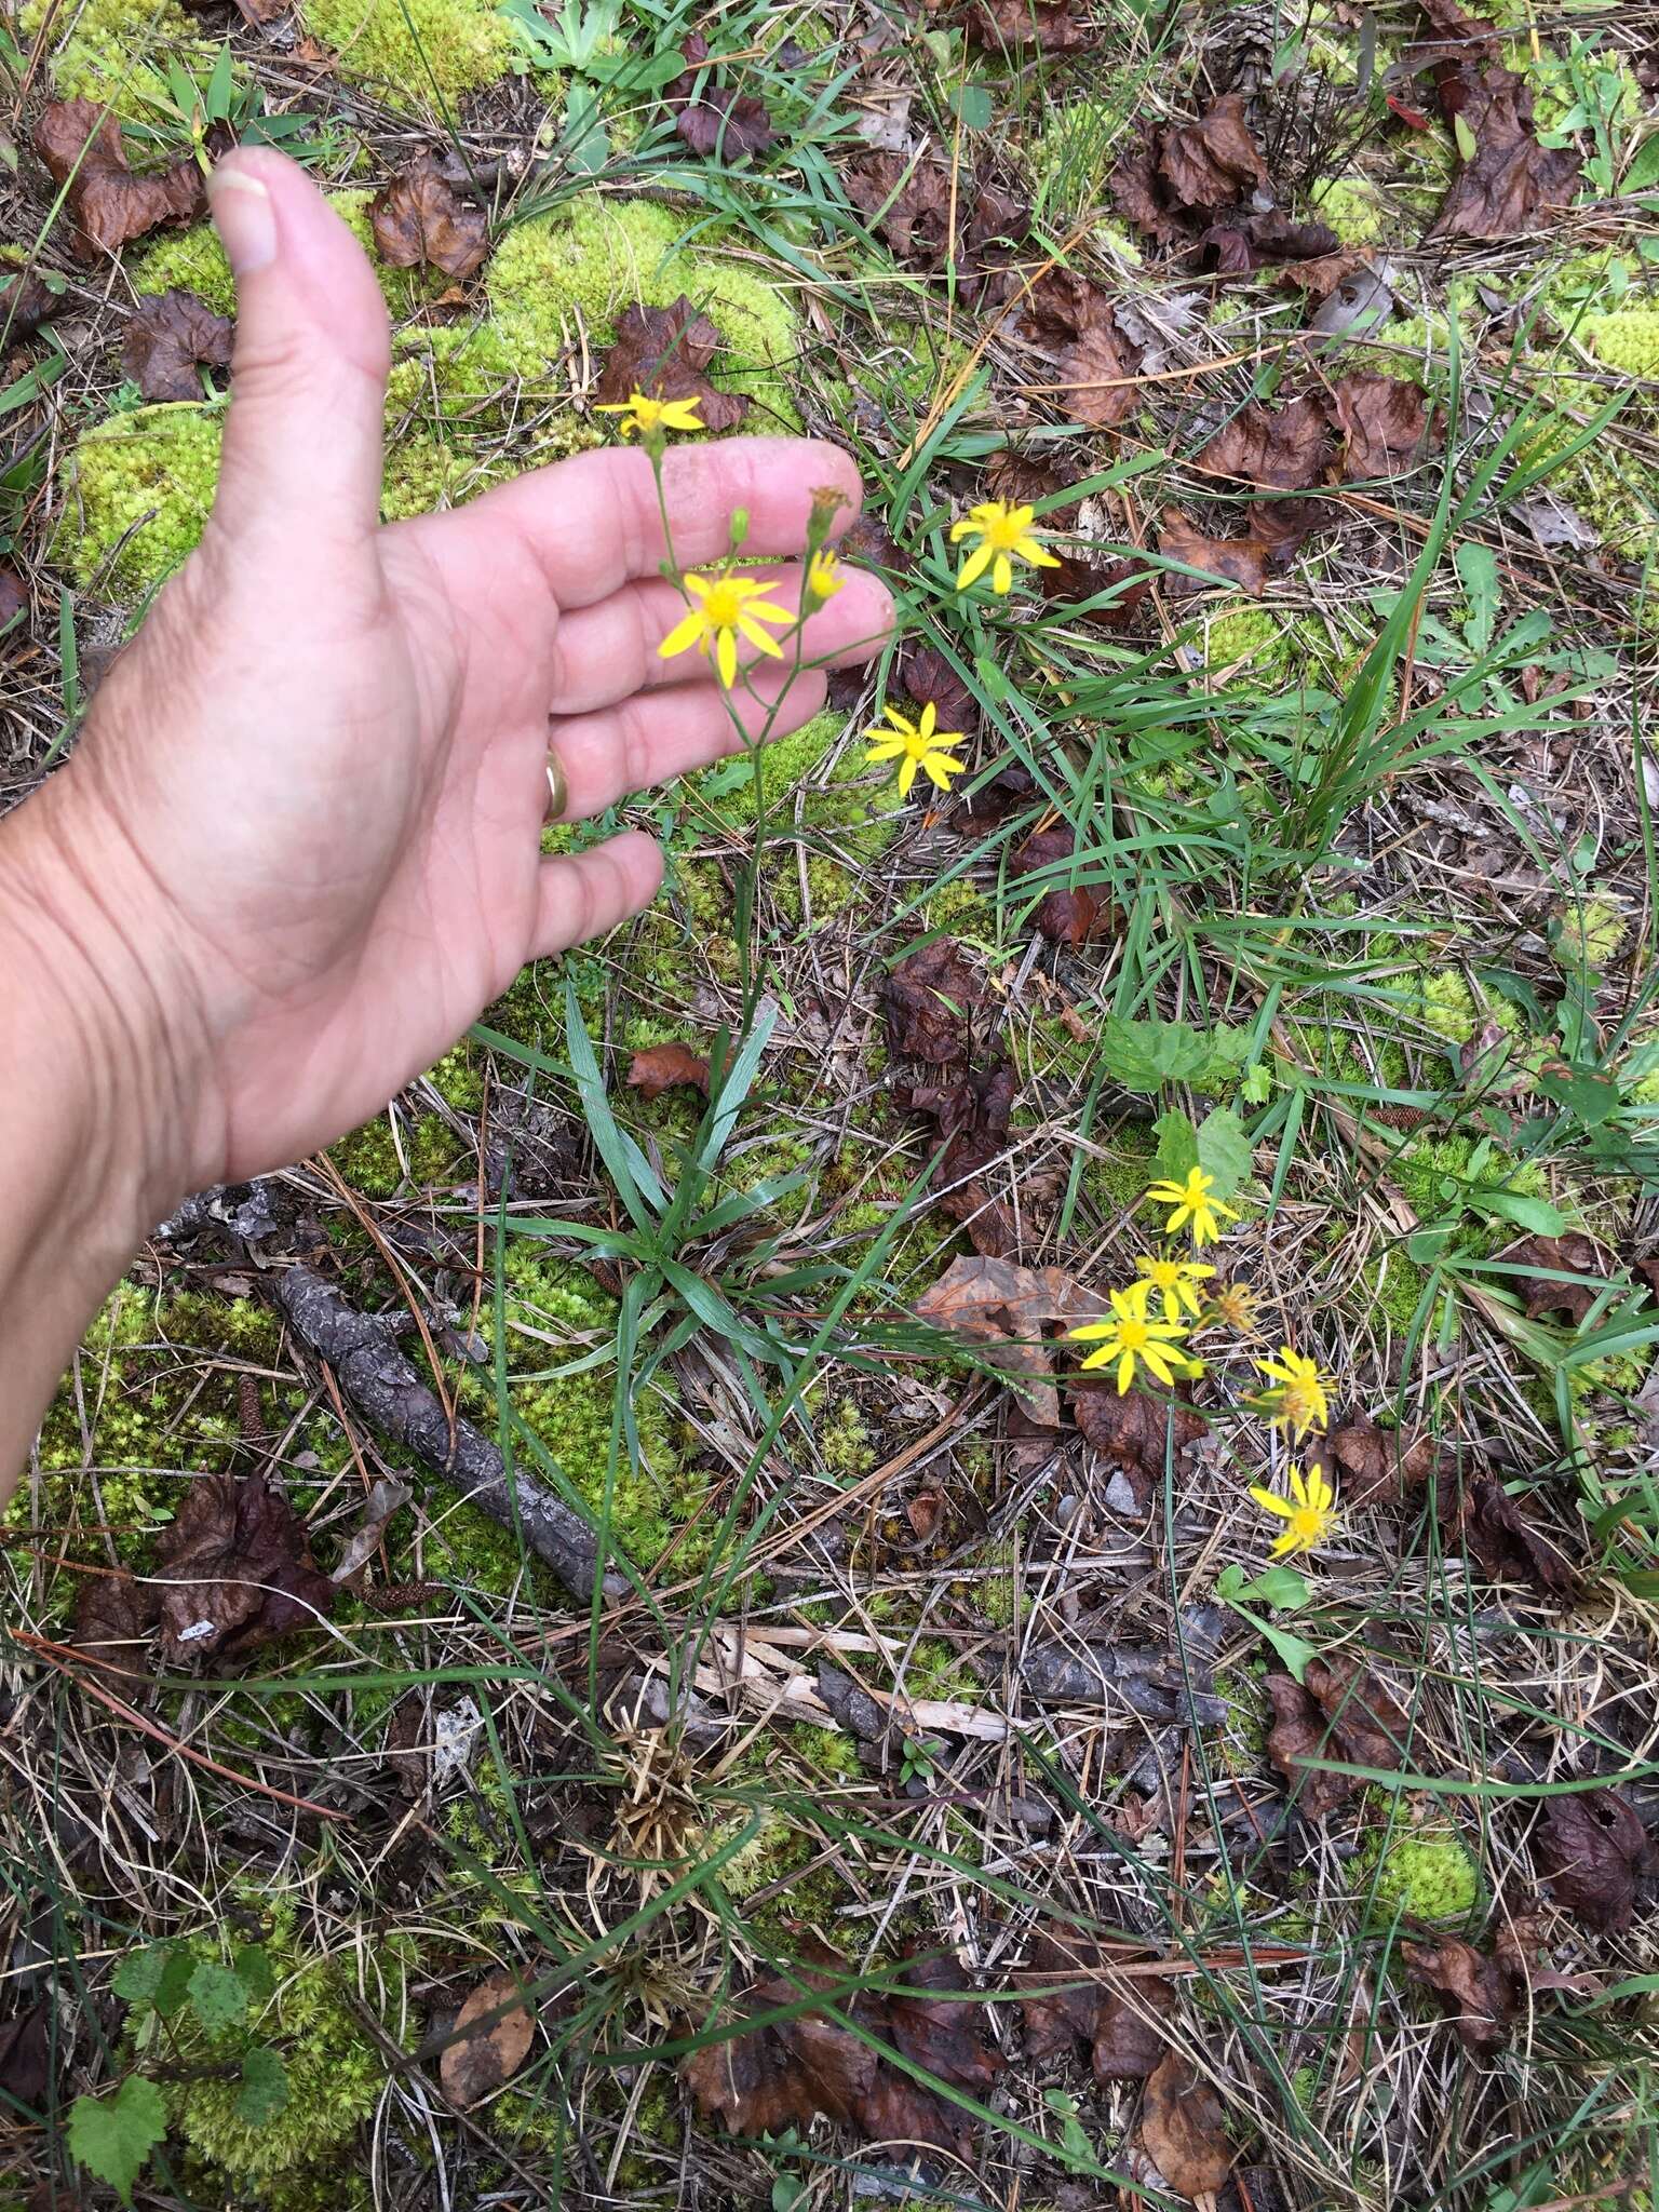
[[[155,1540],[161,1657],[239,1659],[334,1610],[305,1524],[265,1475],[197,1475]]]

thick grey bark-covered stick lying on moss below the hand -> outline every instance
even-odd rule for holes
[[[593,1528],[524,1473],[509,1478],[495,1444],[460,1416],[451,1449],[449,1418],[438,1394],[420,1380],[372,1314],[349,1305],[314,1267],[290,1267],[276,1283],[276,1303],[301,1343],[327,1360],[341,1391],[376,1429],[414,1451],[445,1482],[453,1482],[469,1504],[502,1528],[522,1528],[529,1548],[573,1597],[582,1604],[593,1597],[599,1568]],[[606,1597],[622,1597],[624,1590],[622,1575],[604,1577]]]

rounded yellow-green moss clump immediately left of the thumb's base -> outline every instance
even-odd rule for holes
[[[82,431],[53,555],[82,591],[164,584],[195,549],[219,482],[221,407],[137,407]]]

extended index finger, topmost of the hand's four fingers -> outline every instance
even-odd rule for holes
[[[672,553],[681,568],[701,568],[730,549],[730,524],[748,511],[743,557],[799,553],[814,495],[845,504],[830,535],[858,513],[860,482],[852,458],[816,438],[721,438],[670,445],[664,456],[664,504]],[[646,453],[613,449],[520,476],[445,518],[453,538],[471,524],[500,542],[513,533],[533,555],[560,606],[593,606],[635,577],[657,575],[668,560],[657,484]]]

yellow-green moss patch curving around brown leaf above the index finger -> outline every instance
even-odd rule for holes
[[[518,223],[487,270],[507,345],[540,361],[560,358],[584,336],[604,347],[624,307],[668,307],[686,294],[726,341],[714,356],[714,380],[754,403],[745,429],[765,429],[768,414],[799,427],[783,383],[801,349],[787,292],[745,261],[686,243],[688,221],[657,201],[588,192]]]

